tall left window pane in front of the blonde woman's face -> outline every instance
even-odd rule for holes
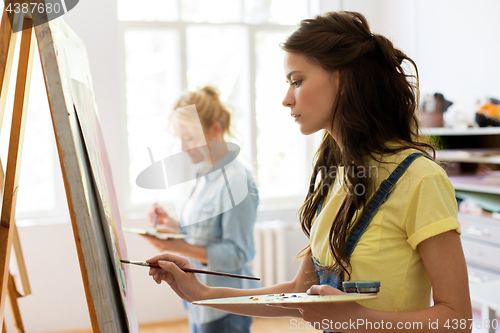
[[[171,52],[179,43],[179,32],[128,29],[124,42],[130,200],[141,205],[160,199],[158,190],[135,184],[137,175],[150,162],[147,147],[153,158],[160,160],[171,152],[173,144],[167,130],[167,110],[181,93],[180,57]]]

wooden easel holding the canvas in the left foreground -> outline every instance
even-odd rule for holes
[[[45,6],[45,0],[29,2]],[[22,4],[23,0],[6,0],[5,8],[11,3]],[[0,26],[1,124],[3,117],[1,111],[5,108],[8,78],[17,37],[17,33],[12,33],[11,26],[15,26],[21,19],[23,23],[0,212],[0,325],[3,326],[5,301],[11,286],[9,259],[15,239],[15,206],[33,63],[33,30],[35,30],[92,329],[94,332],[138,332],[132,299],[127,295],[130,293],[124,292],[128,291],[127,271],[121,267],[116,257],[110,255],[112,252],[110,247],[114,246],[114,243],[109,241],[108,226],[102,224],[103,221],[107,223],[109,217],[107,214],[110,212],[104,208],[107,202],[102,197],[103,184],[96,181],[94,172],[99,174],[99,171],[93,169],[92,164],[96,157],[95,155],[89,157],[86,147],[88,143],[84,138],[85,134],[89,133],[85,132],[88,127],[82,124],[89,126],[90,120],[86,119],[86,116],[87,118],[92,116],[93,113],[90,111],[95,111],[92,105],[92,101],[95,103],[95,100],[90,72],[85,68],[88,62],[85,46],[64,21],[56,22],[56,19],[49,24],[46,13],[33,12],[33,19],[21,15],[22,12],[18,14],[4,12]],[[89,96],[92,99],[90,102]],[[78,109],[82,111],[81,119],[77,114]],[[92,148],[95,152],[96,148]],[[105,157],[105,162],[108,162],[106,154],[102,156]],[[108,185],[104,186],[112,188]],[[108,194],[106,187],[104,190]],[[110,195],[114,195],[114,190]],[[117,250],[124,248],[114,247],[114,250],[113,254],[119,253]],[[16,250],[16,254],[17,252]],[[13,290],[10,296],[12,302],[17,299],[17,293],[14,295],[15,287],[10,290]],[[17,303],[12,308],[18,311]],[[16,322],[22,325],[19,312],[15,313],[14,317]]]

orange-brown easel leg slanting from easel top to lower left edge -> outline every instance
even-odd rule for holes
[[[14,238],[14,228],[11,222],[15,219],[19,172],[26,125],[26,111],[33,65],[34,38],[33,20],[25,17],[21,49],[19,53],[19,66],[14,97],[14,111],[12,114],[11,135],[7,157],[7,169],[3,193],[2,210],[0,215],[0,322],[3,323],[5,299],[7,296],[7,282],[9,278],[9,260]]]

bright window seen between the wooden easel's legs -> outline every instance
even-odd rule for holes
[[[6,172],[10,140],[20,40],[21,38],[18,36],[0,131],[0,158],[4,172]],[[61,168],[59,167],[40,55],[35,52],[22,146],[16,220],[17,225],[40,223],[44,220],[48,223],[54,223],[67,215]]]

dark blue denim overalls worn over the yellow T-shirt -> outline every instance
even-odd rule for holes
[[[377,214],[377,211],[380,208],[380,206],[382,206],[382,204],[387,201],[387,198],[389,198],[389,195],[394,189],[394,186],[396,185],[399,178],[401,178],[401,176],[405,173],[405,171],[413,163],[413,161],[415,161],[420,156],[427,157],[430,159],[429,156],[423,153],[413,153],[411,155],[408,155],[403,160],[403,162],[401,162],[396,167],[396,169],[391,173],[391,175],[387,179],[382,181],[377,192],[375,192],[375,195],[368,203],[368,208],[366,209],[364,215],[361,217],[360,222],[358,223],[356,228],[352,230],[351,234],[349,235],[349,238],[347,239],[347,242],[344,247],[344,253],[347,256],[347,258],[351,257],[352,253],[354,252],[354,248],[358,244],[359,239],[361,238],[361,236],[363,236],[363,233],[368,228],[368,225],[370,224],[375,214]],[[316,217],[321,212],[322,205],[323,202],[320,202]],[[334,273],[330,275],[328,274],[325,275],[325,270],[324,270],[325,267],[320,265],[314,257],[312,257],[312,260],[314,262],[316,277],[318,278],[319,284],[320,285],[327,284],[331,287],[337,288],[342,291],[343,276],[338,277]],[[327,331],[323,332],[326,333]]]

